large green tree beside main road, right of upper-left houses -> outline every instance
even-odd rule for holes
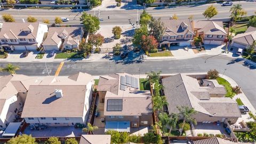
[[[83,21],[84,29],[89,33],[94,34],[100,29],[100,20],[91,14],[83,12],[80,21]]]

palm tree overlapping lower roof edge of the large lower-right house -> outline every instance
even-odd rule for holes
[[[196,119],[194,119],[192,116],[197,113],[197,111],[194,108],[189,107],[178,107],[180,113],[183,115],[183,122],[182,127],[180,131],[180,135],[182,134],[183,127],[186,122],[193,122],[195,125],[197,124]]]

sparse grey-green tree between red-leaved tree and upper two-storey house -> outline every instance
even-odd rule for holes
[[[149,22],[149,29],[150,35],[153,35],[157,41],[160,42],[165,30],[164,23],[161,21],[161,18],[152,18]]]

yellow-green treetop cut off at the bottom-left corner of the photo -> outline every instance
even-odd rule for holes
[[[31,135],[22,134],[18,137],[11,138],[6,144],[37,144],[36,139]]]

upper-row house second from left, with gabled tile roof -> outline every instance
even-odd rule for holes
[[[43,46],[45,51],[78,49],[83,38],[82,27],[50,27]]]

